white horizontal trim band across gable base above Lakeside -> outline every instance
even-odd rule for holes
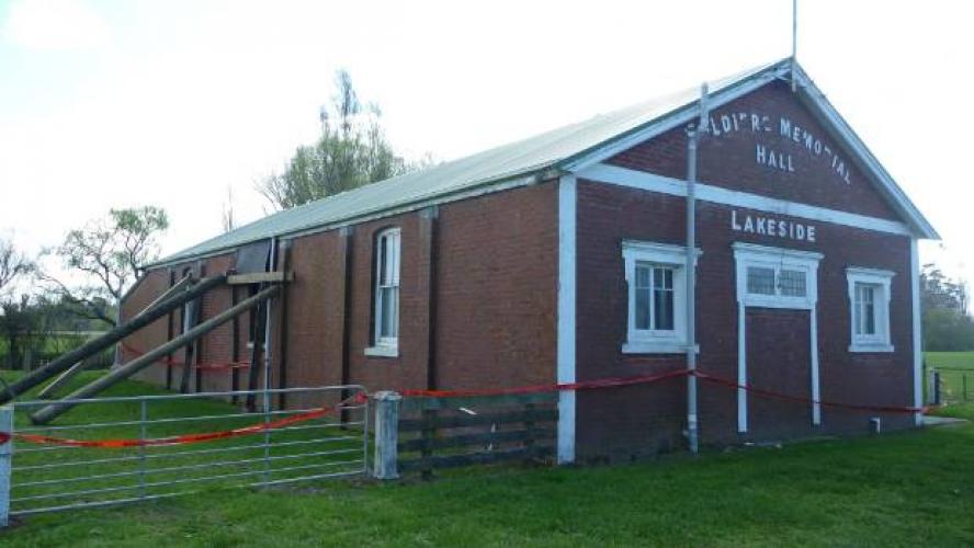
[[[638,189],[671,196],[686,196],[687,182],[645,171],[599,163],[578,172],[579,179],[616,184],[630,189]],[[913,231],[905,224],[897,220],[881,219],[867,215],[859,215],[827,207],[799,204],[784,199],[761,196],[748,192],[732,191],[721,186],[696,183],[696,199],[714,204],[744,207],[758,212],[801,217],[809,220],[819,220],[842,225],[852,228],[873,230],[899,236],[910,236]]]

